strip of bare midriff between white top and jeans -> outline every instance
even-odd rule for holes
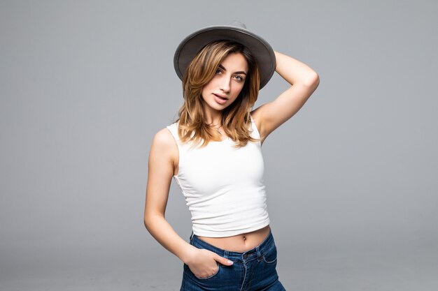
[[[269,232],[270,228],[267,225],[260,230],[237,234],[232,237],[198,237],[206,243],[222,248],[222,250],[244,253],[262,244],[264,239],[268,237]]]

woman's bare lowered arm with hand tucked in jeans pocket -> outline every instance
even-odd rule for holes
[[[166,221],[164,214],[177,161],[178,147],[170,131],[164,128],[155,135],[150,147],[144,223],[150,234],[188,264],[195,276],[208,277],[216,273],[216,262],[225,265],[232,263],[216,253],[188,244]]]

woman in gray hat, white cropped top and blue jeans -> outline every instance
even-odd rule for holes
[[[318,74],[274,52],[243,24],[207,27],[176,50],[184,104],[154,137],[144,221],[184,262],[181,290],[284,290],[276,273],[261,145],[319,84]],[[290,84],[255,110],[274,70]],[[190,243],[164,218],[174,177],[192,214]]]

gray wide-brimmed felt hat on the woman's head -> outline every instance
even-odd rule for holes
[[[205,45],[216,40],[231,40],[248,47],[260,70],[260,89],[269,82],[276,66],[274,50],[266,40],[248,31],[241,22],[205,27],[184,38],[176,48],[174,56],[176,75],[183,80],[190,61]]]

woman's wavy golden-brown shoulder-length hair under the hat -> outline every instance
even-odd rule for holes
[[[210,141],[220,141],[217,130],[206,124],[202,89],[216,74],[219,65],[231,53],[241,53],[248,63],[243,88],[236,100],[223,110],[222,128],[236,147],[256,141],[250,136],[250,109],[257,101],[260,74],[251,52],[239,43],[220,40],[206,45],[190,62],[183,77],[184,104],[180,108],[178,135],[182,142],[205,147]]]

